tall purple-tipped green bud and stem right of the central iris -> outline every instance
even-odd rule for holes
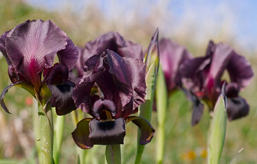
[[[139,116],[145,118],[149,122],[151,122],[152,117],[152,103],[154,98],[154,91],[156,86],[156,78],[159,68],[159,46],[158,46],[158,29],[152,36],[150,45],[146,52],[146,56],[144,58],[144,62],[146,64],[146,96],[145,96],[145,103],[139,106],[138,113]],[[140,130],[138,129],[137,132],[137,152],[136,152],[136,160],[135,164],[140,163],[142,153],[144,151],[145,145],[139,144],[140,138]]]

